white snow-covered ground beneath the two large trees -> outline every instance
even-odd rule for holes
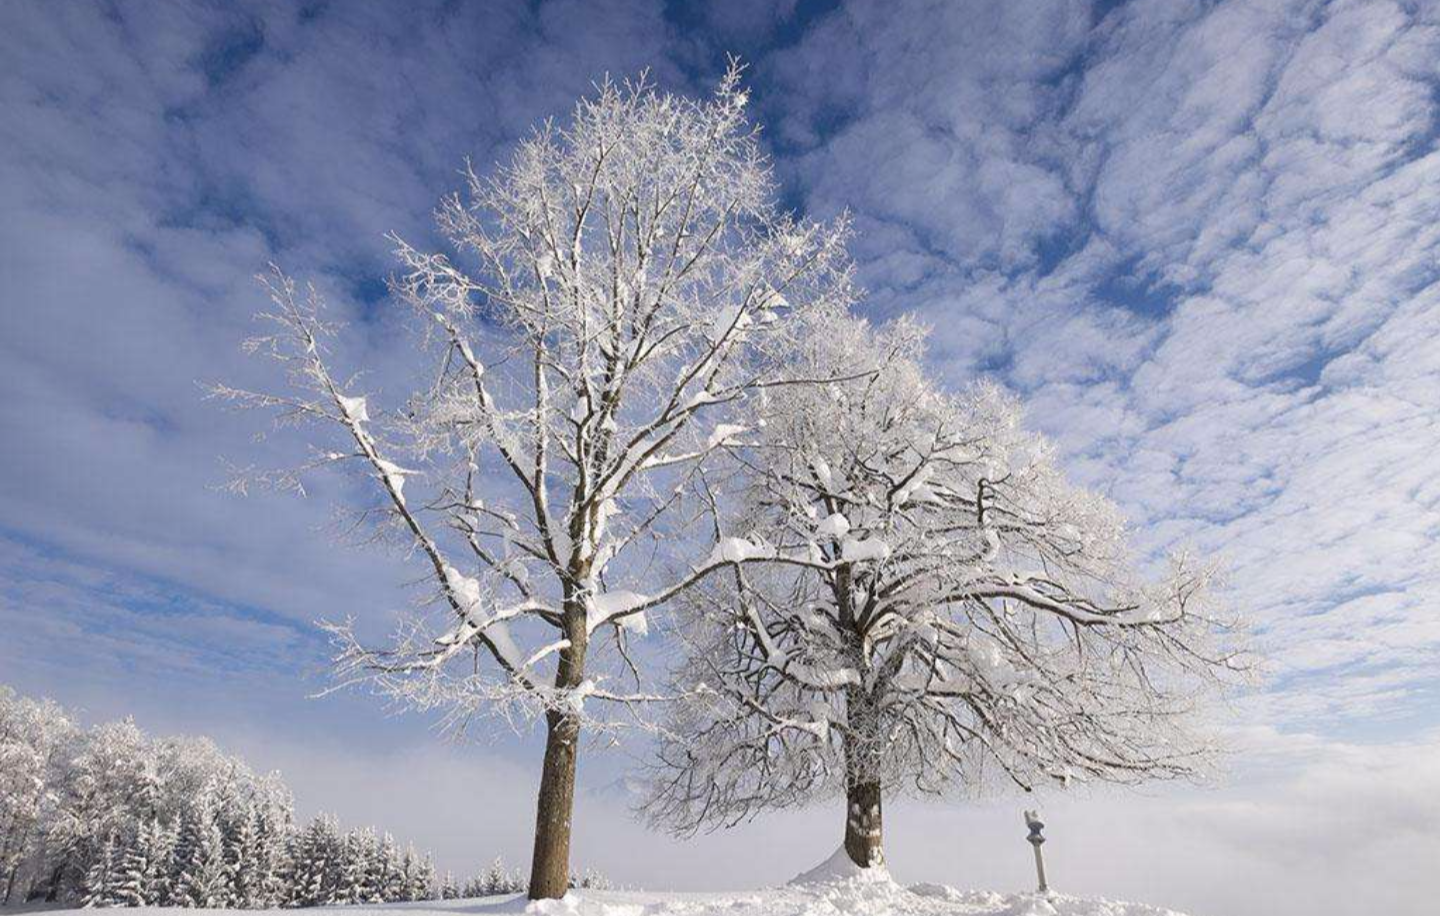
[[[9,910],[0,909],[0,913]],[[478,897],[317,906],[304,910],[180,910],[137,907],[117,916],[1182,916],[1142,903],[1117,903],[1064,894],[999,894],[943,884],[903,887],[891,880],[835,879],[750,893],[654,893],[585,890],[562,900]],[[95,910],[49,910],[46,916],[95,916]]]

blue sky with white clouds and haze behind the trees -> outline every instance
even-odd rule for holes
[[[1076,858],[1070,884],[1261,912],[1158,858],[1166,837],[1282,889],[1263,912],[1374,912],[1356,883],[1420,912],[1388,870],[1440,854],[1405,832],[1440,820],[1431,3],[9,0],[0,681],[213,733],[307,805],[455,867],[521,857],[530,742],[446,747],[360,697],[302,701],[324,660],[311,621],[383,627],[409,578],[337,543],[341,481],[307,501],[217,493],[222,458],[297,444],[255,441],[200,385],[262,380],[238,343],[268,261],[356,321],[344,360],[405,379],[383,235],[429,239],[464,157],[495,161],[605,73],[703,92],[726,52],[750,63],[786,203],[854,215],[868,314],[930,321],[953,385],[1021,392],[1142,550],[1223,556],[1257,627],[1270,680],[1236,707],[1230,782],[1057,799],[1086,844],[1129,857]],[[592,758],[589,822],[621,817],[603,786],[624,766]],[[428,801],[477,783],[495,786],[477,811],[511,814]],[[901,811],[897,863],[1021,883],[996,851],[1007,804]],[[642,864],[596,827],[580,856],[631,881],[706,886],[706,856],[773,881],[821,858],[829,827],[793,815],[691,847],[616,828]],[[760,856],[760,835],[793,851]]]

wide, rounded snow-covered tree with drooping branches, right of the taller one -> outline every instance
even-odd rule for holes
[[[1198,688],[1237,668],[1211,572],[1143,580],[1106,498],[1068,484],[992,386],[942,393],[910,324],[835,321],[773,392],[717,504],[742,552],[687,595],[681,701],[651,815],[681,831],[845,801],[844,848],[883,863],[881,796],[1195,773]]]

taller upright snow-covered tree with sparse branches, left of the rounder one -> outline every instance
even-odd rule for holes
[[[566,889],[582,723],[647,697],[599,648],[624,674],[644,612],[734,559],[700,544],[674,579],[644,575],[687,540],[687,481],[743,432],[742,402],[801,382],[778,359],[793,331],[851,298],[842,228],[780,213],[744,108],[739,68],[706,99],[606,82],[471,171],[438,210],[454,255],[396,241],[392,288],[433,359],[403,409],[331,366],[320,304],[284,278],[252,346],[292,389],[217,392],[327,428],[317,464],[374,481],[429,579],[441,622],[380,648],[334,628],[343,681],[461,720],[544,717],[533,897]]]

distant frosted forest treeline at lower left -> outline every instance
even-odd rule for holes
[[[256,775],[207,737],[156,739],[130,719],[85,729],[0,684],[0,904],[266,909],[524,887],[498,858],[456,881],[389,832],[325,814],[297,824],[279,773]]]

